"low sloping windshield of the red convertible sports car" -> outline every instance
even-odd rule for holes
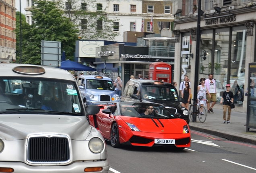
[[[119,103],[122,116],[138,118],[173,119],[175,113],[167,110],[162,105],[151,103]]]

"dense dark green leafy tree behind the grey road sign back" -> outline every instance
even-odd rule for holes
[[[78,30],[56,2],[34,0],[31,9],[34,23],[22,34],[22,62],[41,64],[41,40],[60,41],[66,58],[73,60]],[[17,31],[16,31],[17,33]]]

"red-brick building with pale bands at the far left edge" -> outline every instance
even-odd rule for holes
[[[16,60],[15,0],[0,0],[0,62],[9,63]]]

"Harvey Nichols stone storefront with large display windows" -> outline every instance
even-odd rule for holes
[[[182,1],[181,16],[175,20],[175,81],[188,75],[191,83],[198,78],[213,78],[218,82],[217,96],[222,96],[225,85],[231,85],[235,103],[247,109],[247,97],[237,92],[248,88],[248,64],[255,59],[256,4],[238,0],[202,0],[200,32],[197,33],[198,4]],[[200,34],[199,64],[196,62],[196,36]],[[194,55],[194,58],[193,56]],[[195,69],[195,70],[194,70]],[[194,91],[194,85],[191,86]],[[220,101],[220,99],[217,101]]]

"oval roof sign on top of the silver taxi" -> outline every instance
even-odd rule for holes
[[[45,73],[44,68],[40,66],[17,66],[12,71],[26,75],[40,75]]]

